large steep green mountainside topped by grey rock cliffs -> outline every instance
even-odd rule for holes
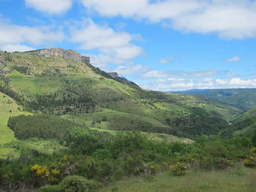
[[[1,52],[1,84],[33,113],[60,115],[107,130],[138,129],[194,138],[217,134],[241,113],[217,100],[141,89],[95,68],[73,50]]]

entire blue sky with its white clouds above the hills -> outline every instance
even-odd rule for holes
[[[255,1],[0,4],[0,50],[74,49],[151,90],[256,88]]]

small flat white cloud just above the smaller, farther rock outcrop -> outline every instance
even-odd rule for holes
[[[148,70],[150,70],[150,67],[147,65],[135,65],[131,67],[118,66],[114,71],[117,72],[118,74],[130,75],[136,72],[145,72]]]

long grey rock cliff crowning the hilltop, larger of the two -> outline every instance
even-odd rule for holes
[[[42,49],[35,52],[29,52],[30,55],[36,54],[38,56],[44,56],[45,58],[51,58],[52,56],[62,57],[66,60],[70,59],[72,61],[81,61],[86,64],[90,63],[90,57],[81,56],[77,51],[71,49],[62,49],[62,48],[51,48],[51,49]]]

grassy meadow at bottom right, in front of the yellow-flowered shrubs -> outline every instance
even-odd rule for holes
[[[256,171],[245,167],[212,172],[191,170],[187,175],[179,177],[165,171],[158,173],[153,181],[148,181],[144,177],[125,178],[100,190],[103,191],[249,192],[256,191]]]

